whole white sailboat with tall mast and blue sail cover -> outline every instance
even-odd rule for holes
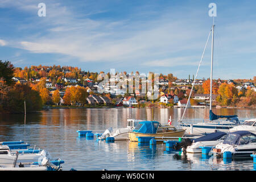
[[[216,132],[216,131],[228,132],[229,129],[232,129],[233,127],[238,126],[238,125],[241,124],[240,121],[237,118],[237,115],[216,115],[212,111],[212,73],[213,73],[214,26],[215,25],[214,25],[214,19],[213,19],[213,25],[212,25],[212,28],[211,28],[211,30],[209,32],[209,36],[208,36],[208,39],[207,39],[207,43],[208,43],[208,40],[209,40],[209,37],[210,37],[210,33],[212,32],[212,55],[211,55],[211,67],[210,67],[209,122],[183,123],[182,119],[184,117],[185,110],[187,109],[187,105],[188,105],[188,103],[187,103],[187,105],[185,107],[185,110],[184,110],[184,113],[183,113],[183,116],[181,118],[181,121],[179,121],[179,122],[180,122],[180,127],[183,128],[183,129],[186,129],[186,132],[189,133],[189,134],[207,134],[207,133],[213,133],[213,132]],[[205,49],[207,47],[207,43],[205,44],[200,64],[201,64],[201,62],[203,60],[203,56],[204,56]],[[199,67],[197,69],[197,73],[199,72],[200,64],[199,64]],[[196,73],[196,76],[197,76],[197,73]],[[192,89],[191,89],[191,92],[189,94],[188,100],[191,97],[191,93],[192,93],[192,90],[193,90],[193,86],[195,85],[195,81],[196,81],[196,78],[195,78],[195,80],[193,82]],[[214,120],[217,120],[219,118],[226,118],[226,121],[214,121]]]

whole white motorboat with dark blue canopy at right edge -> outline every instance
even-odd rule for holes
[[[249,131],[234,131],[228,133],[224,141],[217,144],[209,154],[223,156],[225,152],[229,152],[232,158],[245,158],[250,157],[254,151],[256,151],[256,134]]]

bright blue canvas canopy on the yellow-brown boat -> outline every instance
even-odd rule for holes
[[[135,127],[133,132],[154,134],[154,133],[156,133],[158,126],[159,126],[159,122],[157,122],[157,121],[141,121]]]

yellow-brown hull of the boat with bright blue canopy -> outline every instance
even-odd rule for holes
[[[129,132],[129,140],[131,142],[138,142],[137,137],[183,137],[185,130],[177,130],[167,133],[156,133],[156,134],[145,134],[145,133],[137,133],[137,132]],[[159,140],[155,138],[155,140]]]

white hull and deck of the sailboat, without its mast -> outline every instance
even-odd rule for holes
[[[227,118],[225,121],[208,121],[200,123],[180,123],[180,127],[186,129],[189,134],[209,134],[216,131],[228,133],[230,129],[240,126],[243,121],[237,117]]]

